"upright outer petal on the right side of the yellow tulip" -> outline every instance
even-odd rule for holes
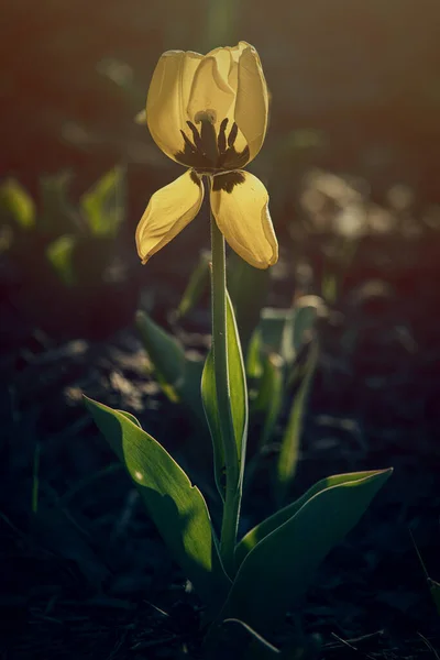
[[[246,45],[238,65],[234,118],[248,142],[250,161],[252,161],[258,153],[266,134],[268,95],[258,54],[253,46]]]

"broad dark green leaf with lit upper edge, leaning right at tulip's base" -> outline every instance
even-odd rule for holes
[[[286,610],[304,595],[321,561],[358,522],[391,473],[392,469],[330,477],[331,485],[317,484],[315,494],[309,491],[299,508],[295,503],[290,517],[286,519],[290,508],[286,507],[258,526],[265,529],[256,528],[246,535],[256,536],[258,542],[239,569],[221,620],[239,618],[261,635],[273,632]]]

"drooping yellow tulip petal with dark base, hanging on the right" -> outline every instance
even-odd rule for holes
[[[268,212],[268,194],[249,172],[216,176],[211,184],[211,209],[230,246],[255,268],[278,261],[278,243]]]

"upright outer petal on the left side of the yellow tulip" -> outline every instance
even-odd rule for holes
[[[154,69],[146,99],[146,120],[157,146],[170,158],[184,147],[193,80],[204,56],[191,51],[167,51]]]

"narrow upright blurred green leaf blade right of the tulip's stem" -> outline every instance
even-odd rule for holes
[[[310,392],[311,380],[315,374],[318,360],[318,344],[312,342],[309,346],[309,354],[301,374],[300,382],[294,395],[287,427],[284,431],[279,455],[276,465],[276,496],[278,503],[283,503],[295,473],[299,458],[299,446],[302,432],[302,422],[307,409],[308,394]]]

